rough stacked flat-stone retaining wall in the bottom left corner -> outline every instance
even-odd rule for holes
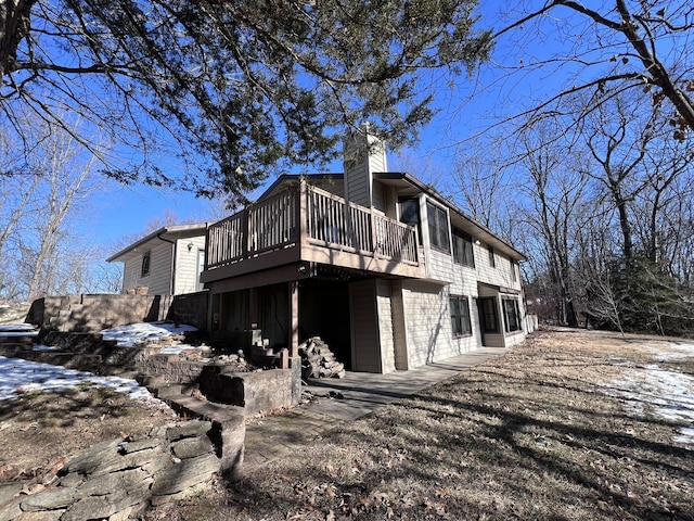
[[[193,420],[144,440],[94,445],[65,461],[37,494],[21,492],[22,483],[0,483],[0,521],[116,521],[179,499],[222,469],[211,431],[211,422]]]

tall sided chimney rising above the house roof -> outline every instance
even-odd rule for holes
[[[386,145],[360,125],[343,143],[345,199],[362,206],[373,205],[373,175],[388,171]]]

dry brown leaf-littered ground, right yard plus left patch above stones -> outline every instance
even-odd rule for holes
[[[540,331],[144,519],[694,521],[694,453],[678,441],[686,422],[663,419],[656,399],[633,394],[653,371],[694,376],[691,354],[661,356],[683,342]],[[691,397],[691,380],[684,385]],[[0,479],[30,479],[81,447],[170,417],[80,390],[0,403]]]

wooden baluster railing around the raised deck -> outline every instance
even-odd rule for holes
[[[320,188],[304,187],[260,201],[211,225],[207,231],[206,269],[296,247],[301,240],[311,245],[417,266],[413,227]],[[300,198],[306,198],[304,206]],[[299,237],[299,223],[305,224],[305,238]]]

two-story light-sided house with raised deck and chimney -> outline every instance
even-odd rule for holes
[[[345,173],[280,177],[210,225],[210,330],[252,327],[296,356],[320,335],[355,371],[389,372],[525,339],[522,253],[355,134]]]

